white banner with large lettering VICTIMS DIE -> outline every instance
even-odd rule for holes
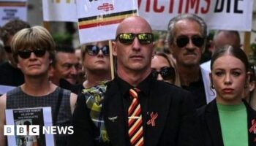
[[[154,30],[166,31],[169,20],[183,13],[199,15],[208,29],[252,29],[253,0],[138,0],[138,7]]]

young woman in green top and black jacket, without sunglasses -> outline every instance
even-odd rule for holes
[[[239,47],[219,48],[211,58],[216,99],[197,111],[203,145],[255,145],[256,112],[242,100],[249,85],[249,63]]]

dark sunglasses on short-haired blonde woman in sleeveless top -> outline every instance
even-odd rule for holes
[[[34,55],[37,57],[42,57],[45,55],[45,52],[46,50],[44,48],[37,48],[34,50],[19,50],[17,54],[20,56],[20,58],[26,59],[30,57],[31,53],[34,53]]]

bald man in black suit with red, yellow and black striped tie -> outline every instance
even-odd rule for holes
[[[92,96],[94,108],[86,104],[91,99],[78,100],[72,145],[197,145],[189,92],[151,74],[153,38],[143,18],[133,16],[119,24],[113,42],[116,77],[107,88],[89,91],[104,97],[100,101]],[[91,117],[94,112],[102,118]]]

